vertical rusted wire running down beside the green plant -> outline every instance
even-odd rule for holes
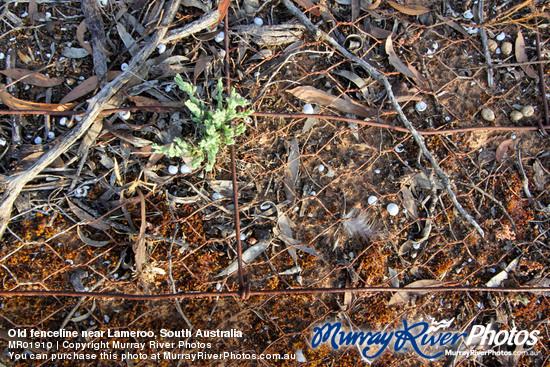
[[[229,71],[229,21],[228,13],[225,13],[224,18],[224,41],[225,41],[225,78],[226,78],[226,88],[227,94],[231,94],[231,75]],[[231,121],[231,128],[233,128],[233,121]],[[233,206],[235,208],[235,235],[237,238],[237,262],[239,265],[239,286],[241,291],[241,298],[247,298],[245,295],[245,284],[243,276],[243,262],[242,262],[242,243],[241,243],[241,223],[239,218],[239,191],[237,189],[237,168],[235,165],[235,145],[231,144],[229,147],[229,152],[231,155],[231,180],[233,182]]]

